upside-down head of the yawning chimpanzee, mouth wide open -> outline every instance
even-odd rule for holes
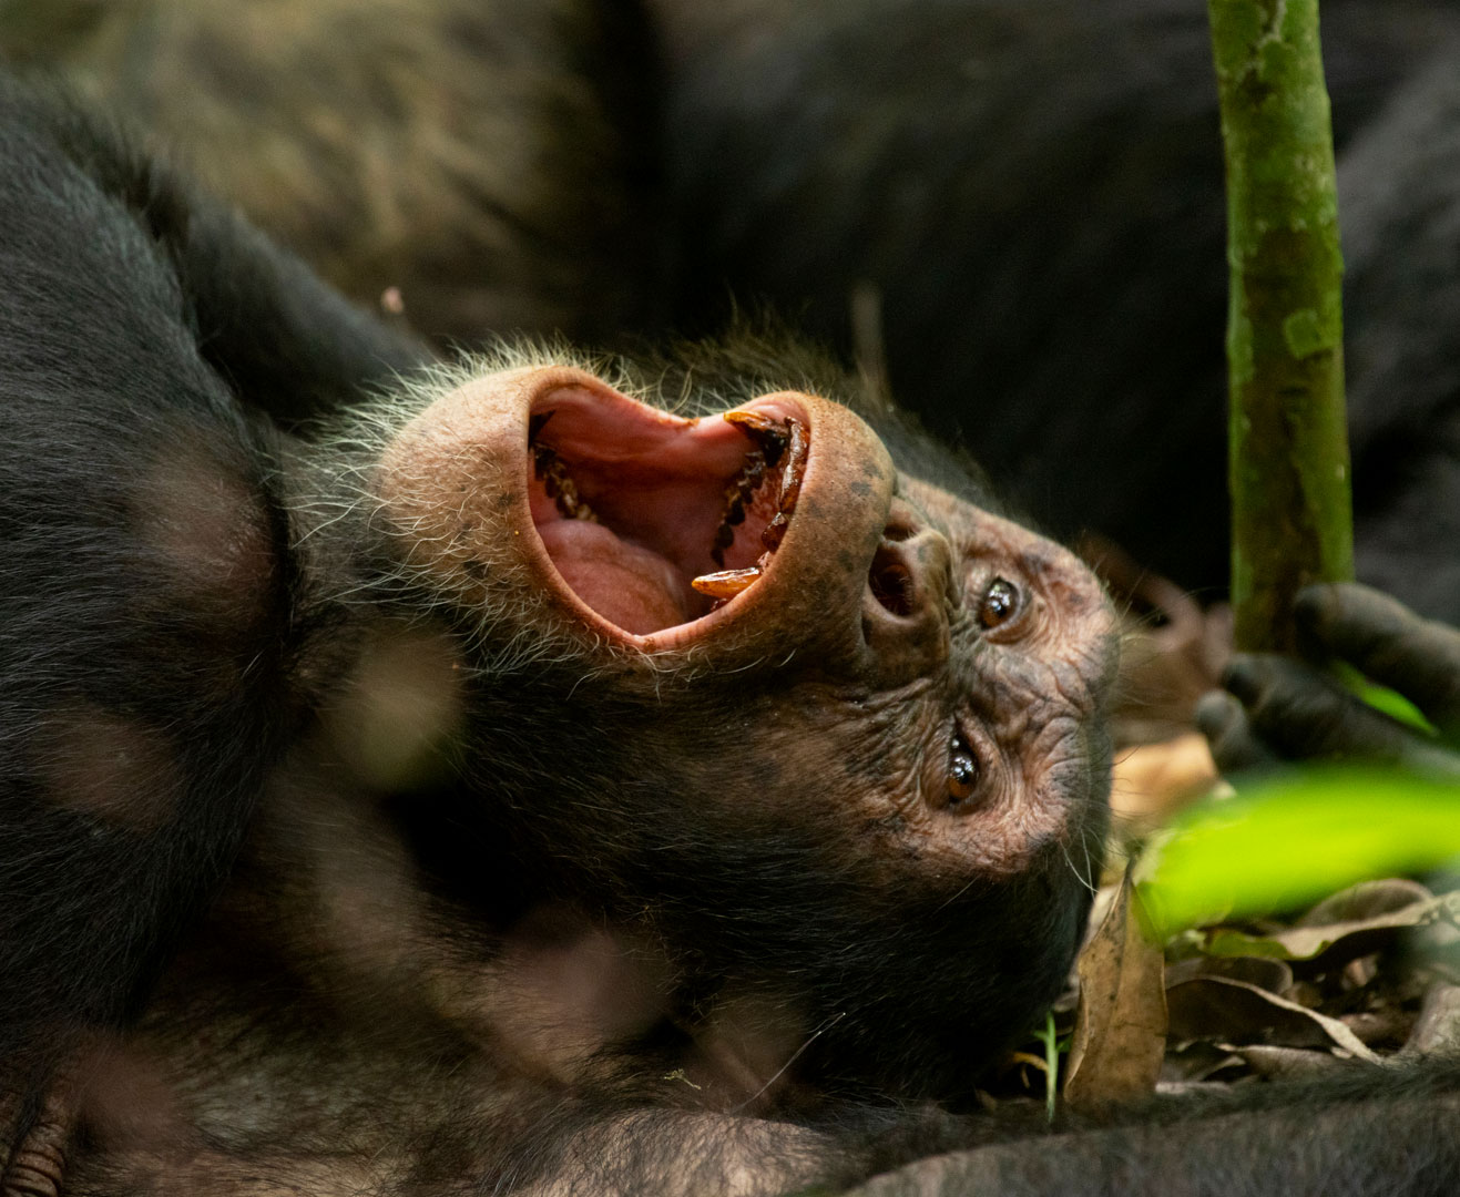
[[[1064,549],[899,473],[819,396],[680,416],[556,365],[441,394],[375,492],[413,593],[464,629],[483,804],[559,896],[653,925],[696,1001],[790,975],[806,1031],[901,1001],[965,1060],[1051,996],[1104,826],[1114,632]],[[1053,947],[990,959],[1013,927]]]

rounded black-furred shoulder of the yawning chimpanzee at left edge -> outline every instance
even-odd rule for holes
[[[110,1019],[127,1007],[156,944],[152,927],[133,933],[130,911],[112,914],[111,890],[130,893],[153,869],[165,873],[180,848],[162,836],[156,857],[139,855],[120,831],[93,835],[74,810],[38,809],[38,793],[57,771],[73,768],[69,740],[85,737],[95,714],[117,743],[95,768],[67,778],[67,788],[74,782],[85,794],[134,784],[140,791],[153,772],[172,771],[152,721],[168,718],[174,705],[188,712],[194,734],[184,739],[218,739],[207,753],[237,758],[239,780],[194,804],[199,828],[180,836],[222,839],[199,851],[226,855],[238,834],[238,815],[228,812],[247,806],[257,784],[254,749],[232,731],[253,728],[254,702],[247,686],[235,695],[207,683],[201,690],[215,709],[200,707],[188,650],[212,641],[239,674],[264,653],[257,670],[264,676],[288,594],[260,432],[197,353],[177,270],[126,196],[131,188],[145,201],[146,166],[64,105],[10,85],[0,104],[0,527],[7,546],[0,603],[15,629],[0,650],[6,871],[15,879],[12,870],[32,860],[38,876],[51,876],[54,861],[79,866],[54,886],[12,880],[6,940],[18,949],[0,984],[9,1012],[4,1055],[15,1058],[55,1009]],[[193,502],[197,474],[212,480],[210,504]],[[169,511],[169,502],[177,508]],[[234,530],[231,542],[215,540],[226,530]],[[184,559],[191,550],[199,556]],[[131,728],[139,747],[128,758]],[[168,880],[159,880],[166,890]],[[158,893],[156,901],[174,898]],[[98,982],[76,965],[55,968],[57,950],[96,961]]]

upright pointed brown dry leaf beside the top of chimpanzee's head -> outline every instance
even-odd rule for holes
[[[1064,1099],[1083,1109],[1155,1092],[1167,1047],[1165,961],[1136,917],[1127,870],[1079,961],[1080,998]]]

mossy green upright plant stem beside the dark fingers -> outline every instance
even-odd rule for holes
[[[1235,642],[1289,651],[1353,575],[1337,199],[1317,0],[1207,0],[1226,152]]]

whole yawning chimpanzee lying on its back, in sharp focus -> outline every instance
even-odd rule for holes
[[[1451,1070],[968,1112],[1082,931],[1114,620],[876,393],[756,340],[438,365],[9,83],[0,201],[6,1197],[967,1146],[877,1184],[1272,1193],[1355,1118],[1350,1181],[1460,1169]]]

